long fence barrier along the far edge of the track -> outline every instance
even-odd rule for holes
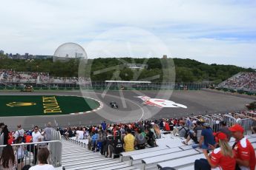
[[[53,89],[53,90],[88,90],[88,89],[96,89],[96,90],[160,90],[160,89],[179,89],[179,90],[198,90],[203,89],[209,86],[209,84],[174,84],[172,82],[152,82],[151,84],[133,84],[133,83],[123,83],[123,84],[110,84],[104,81],[91,81],[89,84],[45,84],[45,83],[18,83],[18,82],[4,82],[0,81],[0,89],[22,89],[24,85],[31,85],[33,89]]]

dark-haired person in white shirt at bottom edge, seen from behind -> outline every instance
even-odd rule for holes
[[[39,164],[32,166],[29,170],[54,170],[52,165],[47,164],[47,158],[49,157],[49,150],[47,148],[42,148],[37,154],[37,159]]]

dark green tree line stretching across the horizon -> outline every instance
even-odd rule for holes
[[[145,69],[130,69],[126,64],[147,64]],[[174,65],[172,65],[174,64]],[[174,67],[175,66],[175,67]],[[171,81],[171,74],[177,82],[194,83],[211,81],[215,84],[225,81],[238,72],[255,72],[254,69],[234,65],[204,64],[199,61],[182,58],[96,58],[88,59],[81,67],[86,77],[92,81],[122,80],[140,81],[153,78],[151,81]],[[171,68],[171,72],[170,72]],[[13,69],[19,72],[49,72],[50,76],[77,77],[79,60],[56,61],[52,59],[19,60],[0,55],[0,69]],[[81,69],[80,69],[81,70]]]

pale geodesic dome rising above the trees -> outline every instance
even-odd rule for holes
[[[70,58],[87,59],[85,49],[76,43],[65,43],[60,45],[54,52],[53,61],[69,60]]]

